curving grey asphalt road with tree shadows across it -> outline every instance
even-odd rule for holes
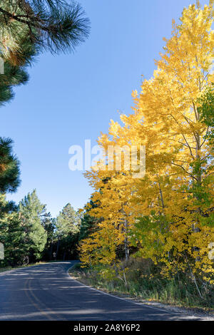
[[[0,274],[0,320],[197,320],[196,316],[118,299],[71,279],[73,262]]]

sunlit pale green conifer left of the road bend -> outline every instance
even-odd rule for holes
[[[25,232],[25,244],[29,250],[29,261],[41,258],[46,245],[47,233],[42,225],[46,206],[41,204],[36,190],[19,202],[19,215]]]

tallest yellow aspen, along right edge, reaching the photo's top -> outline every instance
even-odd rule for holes
[[[146,144],[146,178],[138,184],[136,200],[141,197],[147,205],[144,215],[152,208],[168,221],[161,260],[168,267],[191,266],[205,279],[213,271],[208,259],[214,239],[213,156],[204,138],[208,127],[200,121],[198,98],[213,83],[213,1],[204,9],[184,9],[180,21],[173,22],[173,36],[165,39],[153,78],[143,82],[139,97],[133,93],[134,115],[124,119],[127,132],[134,131]],[[160,242],[156,234],[154,239]]]

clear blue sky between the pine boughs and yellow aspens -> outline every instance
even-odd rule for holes
[[[19,202],[36,188],[52,215],[66,203],[83,207],[91,188],[82,172],[68,169],[68,148],[96,144],[118,111],[131,112],[131,92],[141,75],[150,78],[154,59],[170,37],[171,21],[190,0],[81,0],[91,35],[76,53],[43,54],[26,86],[1,108],[1,136],[14,140],[21,186],[8,199]],[[192,1],[195,3],[195,1]],[[208,1],[201,1],[206,4]]]

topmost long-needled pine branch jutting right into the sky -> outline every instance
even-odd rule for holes
[[[0,6],[6,28],[15,35],[14,22],[18,22],[27,29],[26,36],[30,36],[31,41],[51,53],[73,50],[88,37],[89,20],[79,4],[47,0],[9,2],[10,11],[6,4]]]

